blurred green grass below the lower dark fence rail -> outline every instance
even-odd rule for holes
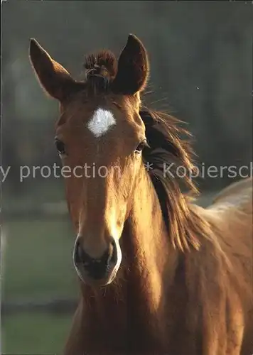
[[[61,354],[72,315],[19,313],[2,319],[4,354]]]

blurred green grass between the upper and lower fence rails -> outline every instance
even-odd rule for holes
[[[21,220],[6,225],[2,300],[75,297],[75,235],[69,221]]]

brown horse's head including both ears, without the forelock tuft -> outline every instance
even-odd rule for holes
[[[60,101],[55,144],[77,231],[75,268],[86,283],[106,285],[121,263],[119,239],[146,145],[139,116],[139,92],[148,75],[146,50],[129,36],[117,73],[104,91],[98,89],[103,77],[75,82],[34,40],[30,55],[41,84]]]

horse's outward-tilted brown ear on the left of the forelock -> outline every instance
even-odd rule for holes
[[[63,102],[77,86],[70,73],[31,38],[29,57],[34,71],[45,92]]]

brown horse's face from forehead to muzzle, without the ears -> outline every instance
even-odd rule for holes
[[[121,261],[119,238],[146,143],[139,101],[119,95],[80,100],[65,114],[55,139],[72,172],[65,185],[77,229],[75,268],[86,282],[108,283]]]

